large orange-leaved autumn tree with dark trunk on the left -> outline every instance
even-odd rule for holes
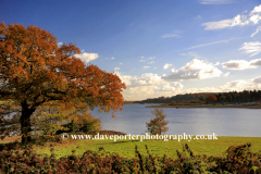
[[[104,112],[124,104],[126,87],[120,77],[85,65],[77,53],[75,45],[58,47],[52,34],[34,25],[0,23],[0,99],[21,105],[23,142],[30,140],[30,117],[44,103],[77,110],[100,107]]]

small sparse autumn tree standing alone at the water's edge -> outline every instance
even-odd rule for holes
[[[150,120],[149,123],[146,122],[147,124],[147,133],[150,133],[152,135],[156,134],[164,134],[165,132],[169,130],[166,127],[169,121],[165,121],[165,115],[163,114],[163,110],[161,109],[154,109],[154,111],[151,111],[153,115],[156,115],[154,119]]]

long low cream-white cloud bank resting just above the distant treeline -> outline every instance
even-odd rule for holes
[[[261,88],[261,76],[252,79],[237,79],[227,82],[225,85],[216,87],[185,88],[179,82],[167,82],[158,74],[146,73],[140,76],[115,74],[126,84],[126,90],[123,90],[125,100],[144,100],[147,98],[171,97],[189,92],[225,92],[233,90],[253,90]],[[228,73],[226,73],[228,74]]]

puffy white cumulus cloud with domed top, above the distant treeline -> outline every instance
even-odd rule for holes
[[[221,76],[222,72],[212,63],[206,63],[202,60],[194,59],[185,66],[174,70],[170,75],[162,76],[166,80],[183,80],[183,79],[204,79]]]

